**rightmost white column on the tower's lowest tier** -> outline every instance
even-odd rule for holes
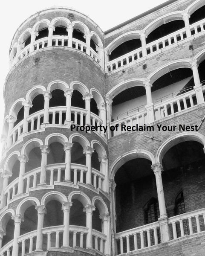
[[[104,245],[104,254],[105,255],[111,255],[111,236],[110,236],[110,216],[108,212],[105,212],[100,215],[100,218],[102,220],[102,233],[104,233],[107,236],[107,239],[105,241]]]

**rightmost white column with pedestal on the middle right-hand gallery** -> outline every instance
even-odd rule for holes
[[[198,63],[197,60],[193,60],[190,62],[191,64],[191,69],[193,71],[193,80],[194,80],[194,91],[196,93],[196,99],[197,103],[201,104],[204,102],[204,96],[203,96],[203,91],[202,91],[202,84],[200,82],[199,78],[199,71],[198,71]]]

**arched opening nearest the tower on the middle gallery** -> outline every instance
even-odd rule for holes
[[[125,87],[126,88],[126,87]],[[113,121],[123,119],[133,113],[140,112],[147,105],[146,91],[144,86],[132,86],[118,93],[113,98],[112,111]],[[136,125],[137,120],[133,120]],[[139,118],[140,124],[144,124],[144,119]]]

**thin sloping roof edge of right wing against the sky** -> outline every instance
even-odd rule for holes
[[[155,11],[157,11],[157,10],[159,10],[159,9],[161,9],[161,8],[163,8],[163,7],[165,7],[165,6],[169,5],[169,4],[171,4],[171,3],[174,3],[174,2],[176,2],[176,1],[178,1],[178,0],[168,0],[168,1],[166,1],[165,3],[160,4],[159,6],[156,6],[156,7],[152,8],[152,9],[146,11],[146,12],[143,12],[143,13],[141,13],[141,14],[139,14],[139,15],[133,17],[133,18],[131,18],[130,20],[126,20],[126,21],[124,21],[123,23],[121,23],[121,24],[119,24],[119,25],[117,25],[117,26],[114,26],[114,27],[111,28],[111,29],[106,30],[106,31],[104,32],[104,34],[107,35],[107,34],[109,34],[110,32],[113,32],[113,31],[116,30],[116,29],[120,29],[121,27],[123,27],[123,26],[125,26],[125,25],[127,25],[127,24],[129,24],[129,23],[131,23],[131,22],[133,22],[133,21],[135,21],[135,20],[138,20],[138,19],[140,19],[141,17],[144,17],[144,16],[146,16],[146,15],[152,13],[152,12],[155,12]]]

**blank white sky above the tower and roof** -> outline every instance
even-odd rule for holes
[[[103,31],[135,17],[166,0],[3,0],[0,15],[0,134],[3,125],[3,85],[9,72],[9,47],[18,26],[29,16],[51,6],[66,6],[89,16]]]

